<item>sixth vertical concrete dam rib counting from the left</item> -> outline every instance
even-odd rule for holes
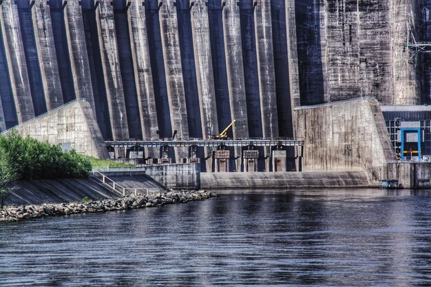
[[[172,131],[176,138],[189,139],[187,123],[187,107],[184,83],[182,79],[180,42],[178,39],[178,21],[174,0],[159,0],[160,32],[162,35],[163,57],[165,59],[165,74]],[[187,148],[179,147],[176,160],[187,158]]]

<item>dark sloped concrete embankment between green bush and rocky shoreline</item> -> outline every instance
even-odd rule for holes
[[[55,202],[81,202],[85,197],[90,200],[118,198],[118,193],[105,187],[94,178],[63,180],[19,180],[6,204],[44,204]]]

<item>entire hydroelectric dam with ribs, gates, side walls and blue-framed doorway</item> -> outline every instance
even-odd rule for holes
[[[0,131],[98,158],[262,171],[253,180],[302,171],[297,182],[428,187],[429,9],[0,0]]]

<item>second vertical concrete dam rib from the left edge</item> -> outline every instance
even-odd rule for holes
[[[32,8],[34,38],[41,68],[43,92],[48,110],[63,105],[50,9],[45,0],[36,0]]]

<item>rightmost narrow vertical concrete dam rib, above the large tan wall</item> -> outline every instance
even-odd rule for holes
[[[296,41],[295,0],[286,0],[286,33],[288,52],[288,78],[291,90],[291,109],[301,105],[299,97],[299,72]],[[293,137],[295,137],[295,123],[293,123]]]

